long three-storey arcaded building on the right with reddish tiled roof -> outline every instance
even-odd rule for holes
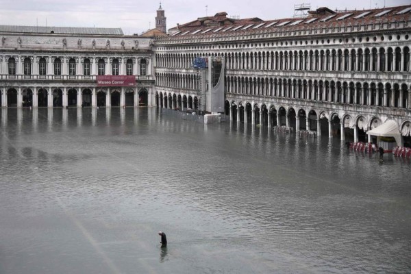
[[[320,8],[275,21],[221,12],[178,25],[155,41],[156,102],[196,108],[193,60],[222,58],[231,121],[370,141],[369,129],[394,120],[409,145],[410,10]]]

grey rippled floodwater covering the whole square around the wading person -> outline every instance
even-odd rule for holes
[[[2,274],[411,272],[408,160],[155,108],[0,111]]]

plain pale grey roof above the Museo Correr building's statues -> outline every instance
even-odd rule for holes
[[[121,28],[107,27],[36,27],[18,25],[0,25],[0,32],[22,32],[35,34],[101,34],[124,35]]]

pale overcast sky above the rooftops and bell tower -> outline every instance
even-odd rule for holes
[[[311,9],[363,10],[409,5],[410,0],[162,0],[167,29],[198,17],[227,12],[239,18],[262,20],[294,15],[294,5],[310,3]],[[0,25],[54,27],[121,27],[124,34],[140,34],[155,27],[160,1],[142,0],[0,0]]]

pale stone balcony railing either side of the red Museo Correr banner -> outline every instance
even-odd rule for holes
[[[151,81],[153,75],[135,75],[136,81]],[[9,75],[1,74],[0,80],[48,80],[48,81],[62,81],[62,80],[84,80],[97,81],[97,75]]]

